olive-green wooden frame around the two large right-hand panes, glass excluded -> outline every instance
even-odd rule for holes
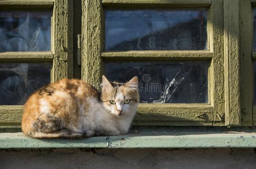
[[[225,28],[235,31],[228,18],[239,15],[228,4],[239,7],[238,0],[83,0],[82,1],[82,79],[99,87],[104,74],[104,61],[209,61],[209,104],[140,104],[139,121],[135,125],[177,126],[233,126],[241,125],[240,81],[232,80],[240,69],[233,64],[239,60],[238,53],[230,53],[234,46],[225,35]],[[226,5],[226,12],[223,6]],[[105,52],[104,9],[195,9],[208,11],[208,50],[193,51],[125,51]],[[227,12],[228,11],[228,12]],[[238,21],[235,21],[238,22]],[[236,23],[235,23],[236,24]],[[238,24],[239,25],[239,24]],[[234,30],[233,30],[234,29]],[[230,80],[231,79],[231,80]],[[229,81],[230,80],[230,81]],[[232,106],[232,107],[231,107]],[[231,108],[230,108],[231,107]]]

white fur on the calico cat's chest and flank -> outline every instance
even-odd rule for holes
[[[115,105],[106,108],[103,103],[96,98],[86,98],[89,105],[86,112],[80,109],[80,126],[82,131],[96,131],[104,135],[118,135],[128,132],[133,116],[136,113],[137,106],[130,108],[131,111],[123,115],[111,113]],[[126,108],[129,108],[126,105]],[[125,111],[125,110],[124,110]]]

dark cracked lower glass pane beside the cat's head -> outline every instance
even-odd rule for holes
[[[208,62],[107,63],[110,81],[138,77],[141,103],[208,103]]]

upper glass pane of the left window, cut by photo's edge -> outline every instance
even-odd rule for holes
[[[0,52],[50,51],[51,12],[0,11]]]

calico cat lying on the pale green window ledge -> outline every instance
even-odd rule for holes
[[[33,138],[84,138],[128,132],[139,103],[138,78],[127,83],[102,76],[102,91],[82,80],[62,79],[32,94],[22,131]]]

